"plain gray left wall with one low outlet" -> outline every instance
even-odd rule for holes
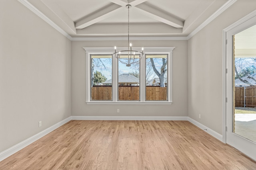
[[[70,75],[71,41],[0,0],[0,152],[71,116]]]

